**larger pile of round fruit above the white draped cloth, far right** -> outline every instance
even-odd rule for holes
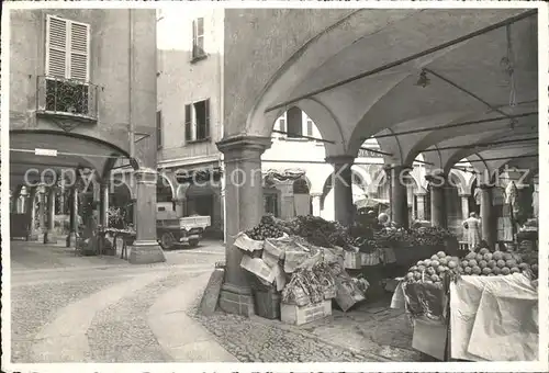
[[[460,273],[467,275],[507,275],[528,271],[530,265],[524,262],[519,255],[481,249],[478,253],[470,252],[460,263]]]

